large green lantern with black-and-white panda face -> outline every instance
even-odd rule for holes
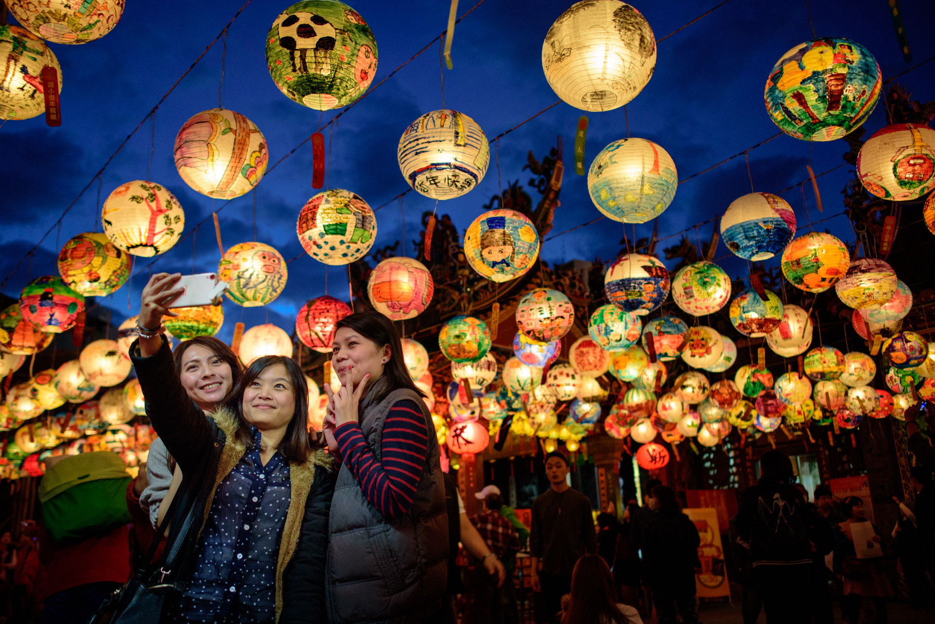
[[[293,102],[315,110],[339,108],[370,86],[377,41],[367,21],[343,2],[296,2],[269,28],[266,67]]]

